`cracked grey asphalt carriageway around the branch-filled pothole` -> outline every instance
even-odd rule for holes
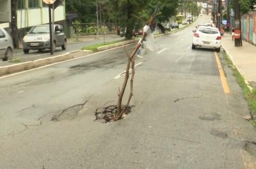
[[[223,64],[225,92],[214,51],[191,50],[194,26],[136,59],[134,107],[118,122],[93,112],[116,104],[123,48],[0,78],[1,168],[255,168],[241,88]]]

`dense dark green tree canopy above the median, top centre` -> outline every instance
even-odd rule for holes
[[[179,6],[177,0],[98,0],[106,22],[117,22],[126,29],[126,39],[132,38],[134,27],[143,27],[157,3],[161,4],[158,22],[169,20]],[[96,22],[96,0],[66,0],[66,6],[67,13],[77,13],[81,22]]]

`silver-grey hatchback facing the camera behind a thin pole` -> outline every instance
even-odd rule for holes
[[[52,48],[56,50],[56,47],[61,47],[62,50],[67,48],[67,38],[63,32],[63,27],[60,25],[54,25],[54,34],[52,36],[53,43]],[[50,29],[49,25],[34,26],[30,29],[28,34],[23,38],[23,52],[29,53],[29,50],[45,50],[50,49]]]

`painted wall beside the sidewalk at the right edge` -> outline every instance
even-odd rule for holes
[[[256,45],[256,11],[250,11],[242,16],[242,37]]]

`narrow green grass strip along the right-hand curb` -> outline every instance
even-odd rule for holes
[[[228,64],[228,67],[232,69],[233,75],[237,79],[237,83],[241,86],[243,90],[244,99],[247,101],[250,113],[253,117],[251,122],[254,126],[256,126],[256,89],[249,89],[249,87],[246,85],[244,77],[236,69],[233,62],[230,60],[226,53],[223,54],[223,59],[225,60],[226,64]]]

